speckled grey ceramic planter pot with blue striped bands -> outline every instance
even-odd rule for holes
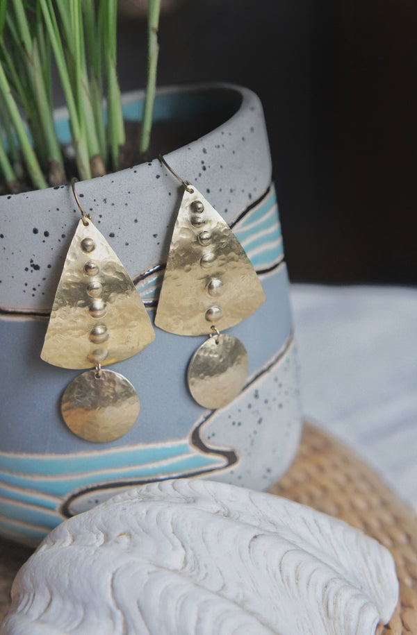
[[[142,94],[124,97],[126,117],[141,111]],[[11,539],[36,543],[64,517],[152,480],[195,475],[267,489],[295,456],[297,364],[261,103],[233,85],[173,88],[158,93],[156,118],[197,122],[195,140],[166,158],[233,228],[263,285],[263,306],[228,331],[247,349],[247,383],[227,407],[199,406],[186,369],[206,337],[156,328],[150,346],[111,366],[138,392],[138,421],[109,443],[76,437],[60,398],[80,371],[50,366],[40,351],[79,211],[69,187],[2,196],[0,534]],[[67,142],[63,113],[57,128]],[[77,187],[153,322],[183,188],[158,160]]]

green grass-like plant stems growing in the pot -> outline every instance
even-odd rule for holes
[[[142,153],[152,126],[160,4],[149,0]],[[19,190],[22,178],[37,189],[67,182],[54,126],[53,60],[79,178],[119,167],[125,133],[116,36],[117,0],[0,0],[0,171],[10,192]]]

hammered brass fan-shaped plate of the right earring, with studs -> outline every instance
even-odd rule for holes
[[[256,271],[220,214],[194,185],[184,189],[155,324],[177,335],[213,335],[265,301]]]

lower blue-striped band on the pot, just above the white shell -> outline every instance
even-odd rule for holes
[[[36,541],[62,522],[60,506],[87,485],[129,482],[218,470],[225,459],[196,452],[188,441],[115,448],[79,455],[0,453],[0,532]],[[88,471],[85,471],[88,466]]]

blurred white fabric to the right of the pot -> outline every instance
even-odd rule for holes
[[[417,291],[292,285],[307,417],[417,509]]]

